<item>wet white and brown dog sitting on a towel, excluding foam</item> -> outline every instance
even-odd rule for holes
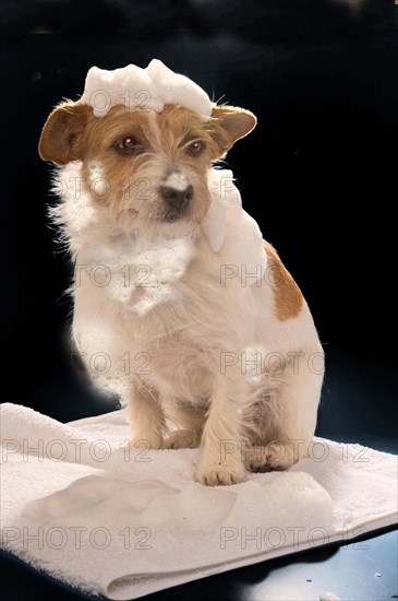
[[[203,120],[172,103],[160,111],[113,105],[97,117],[89,104],[67,101],[39,142],[41,158],[58,165],[62,202],[53,214],[79,267],[72,338],[83,361],[102,380],[122,374],[132,447],[200,447],[194,479],[209,486],[306,457],[322,389],[310,309],[274,247],[263,241],[268,280],[246,285],[203,234],[215,165],[255,126],[250,110],[227,105]],[[176,240],[185,241],[170,275]],[[120,285],[118,297],[108,282],[133,264],[143,284],[155,263],[169,278],[162,296],[154,282],[135,282],[133,293]],[[126,356],[134,369],[121,369]]]

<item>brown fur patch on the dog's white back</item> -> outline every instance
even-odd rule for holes
[[[268,260],[267,270],[272,270],[273,273],[272,285],[276,316],[279,321],[287,321],[300,314],[304,298],[275,248],[266,240],[263,240],[263,246]]]

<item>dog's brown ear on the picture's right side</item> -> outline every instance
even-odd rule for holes
[[[209,120],[210,135],[217,145],[217,156],[224,156],[240,138],[255,128],[257,119],[253,113],[239,106],[215,106]]]

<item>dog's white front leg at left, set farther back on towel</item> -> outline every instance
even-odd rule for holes
[[[133,429],[131,448],[161,449],[164,447],[165,414],[156,390],[133,382],[125,398],[126,417]]]

